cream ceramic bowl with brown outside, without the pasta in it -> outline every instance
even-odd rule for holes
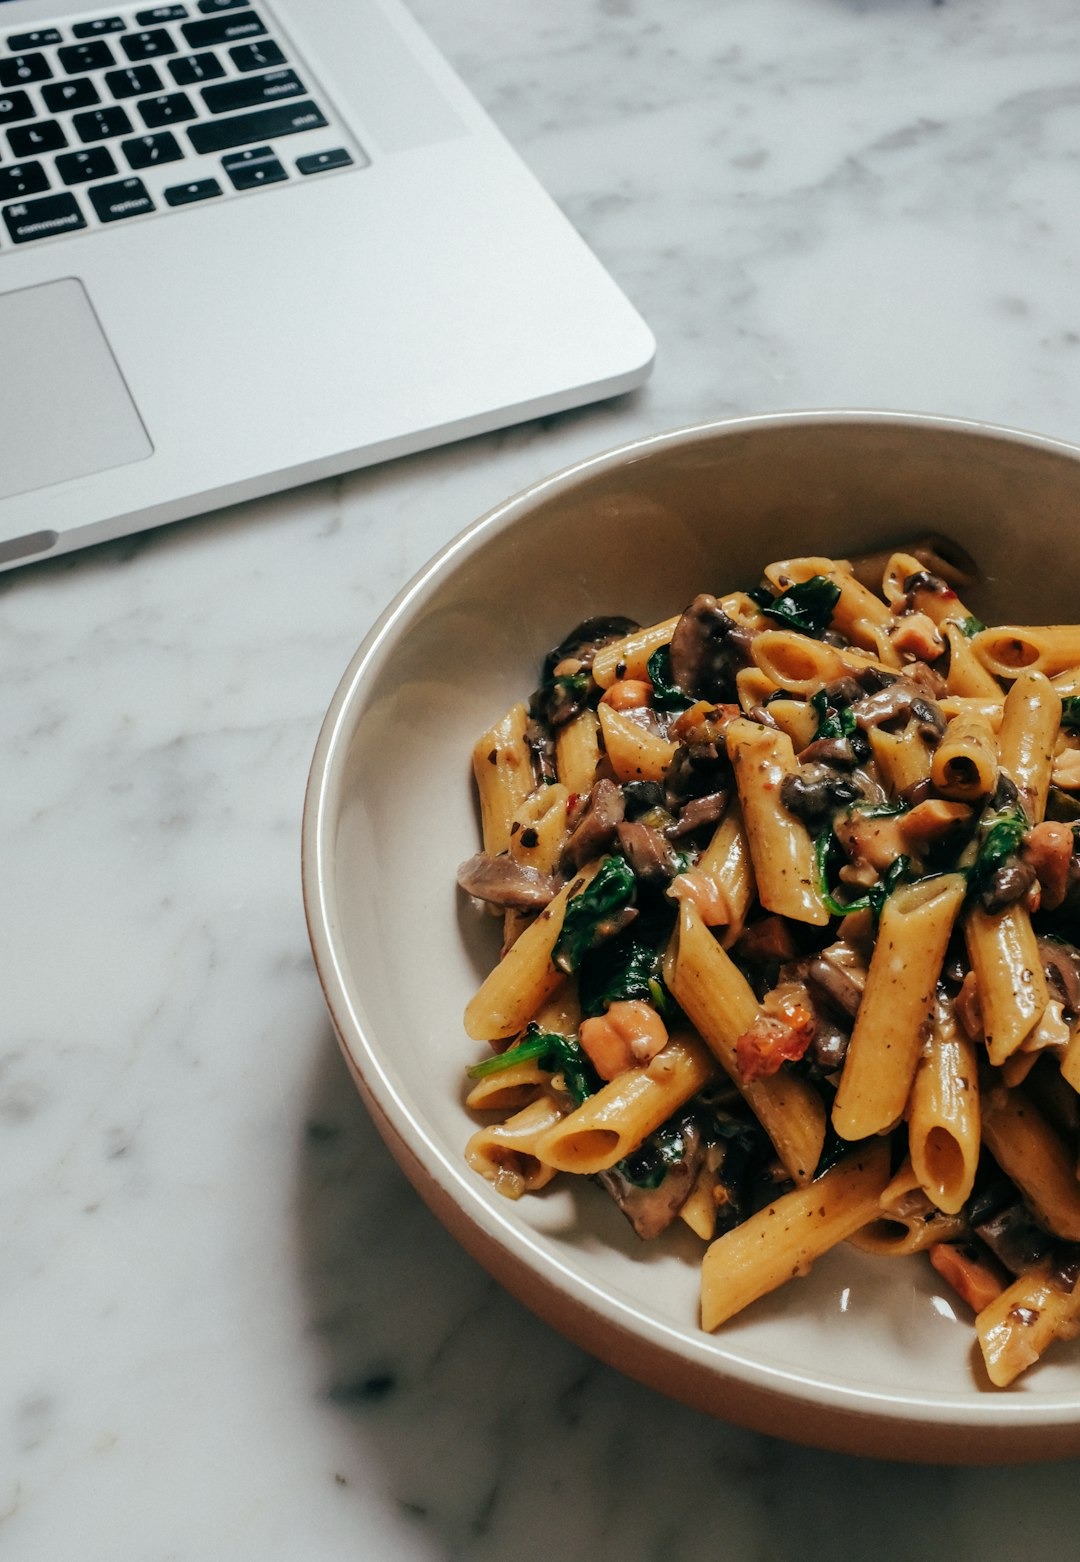
[[[971,1320],[921,1259],[849,1246],[716,1336],[700,1243],[642,1243],[586,1179],[511,1203],[463,1161],[461,1026],[497,923],[455,887],[478,847],[469,753],[591,614],[650,623],[800,553],[925,533],[978,561],[988,622],[1075,619],[1080,450],[936,417],[805,412],[641,439],[500,505],[386,609],[345,670],[303,820],[311,945],[352,1075],[455,1237],[578,1345],[781,1437],[917,1460],[1080,1453],[1080,1348],[1014,1389],[980,1375]],[[574,1179],[578,1181],[578,1179]],[[678,1225],[678,1223],[677,1223]]]

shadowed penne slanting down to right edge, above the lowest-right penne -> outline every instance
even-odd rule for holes
[[[1075,1157],[1022,1090],[997,1086],[983,1095],[983,1143],[1010,1176],[1035,1218],[1066,1242],[1080,1242]]]

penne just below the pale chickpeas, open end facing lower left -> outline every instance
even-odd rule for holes
[[[536,1154],[558,1172],[591,1176],[628,1156],[716,1073],[711,1053],[689,1031],[669,1037],[642,1068],[627,1068],[536,1140]]]

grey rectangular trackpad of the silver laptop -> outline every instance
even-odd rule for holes
[[[75,276],[0,294],[0,498],[153,455]]]

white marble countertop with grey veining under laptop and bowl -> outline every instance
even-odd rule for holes
[[[299,826],[380,608],[533,478],[772,408],[1080,433],[1080,11],[416,11],[652,325],[655,376],[0,580],[0,1553],[1071,1554],[1074,1468],[771,1442],[505,1296],[352,1090]]]

